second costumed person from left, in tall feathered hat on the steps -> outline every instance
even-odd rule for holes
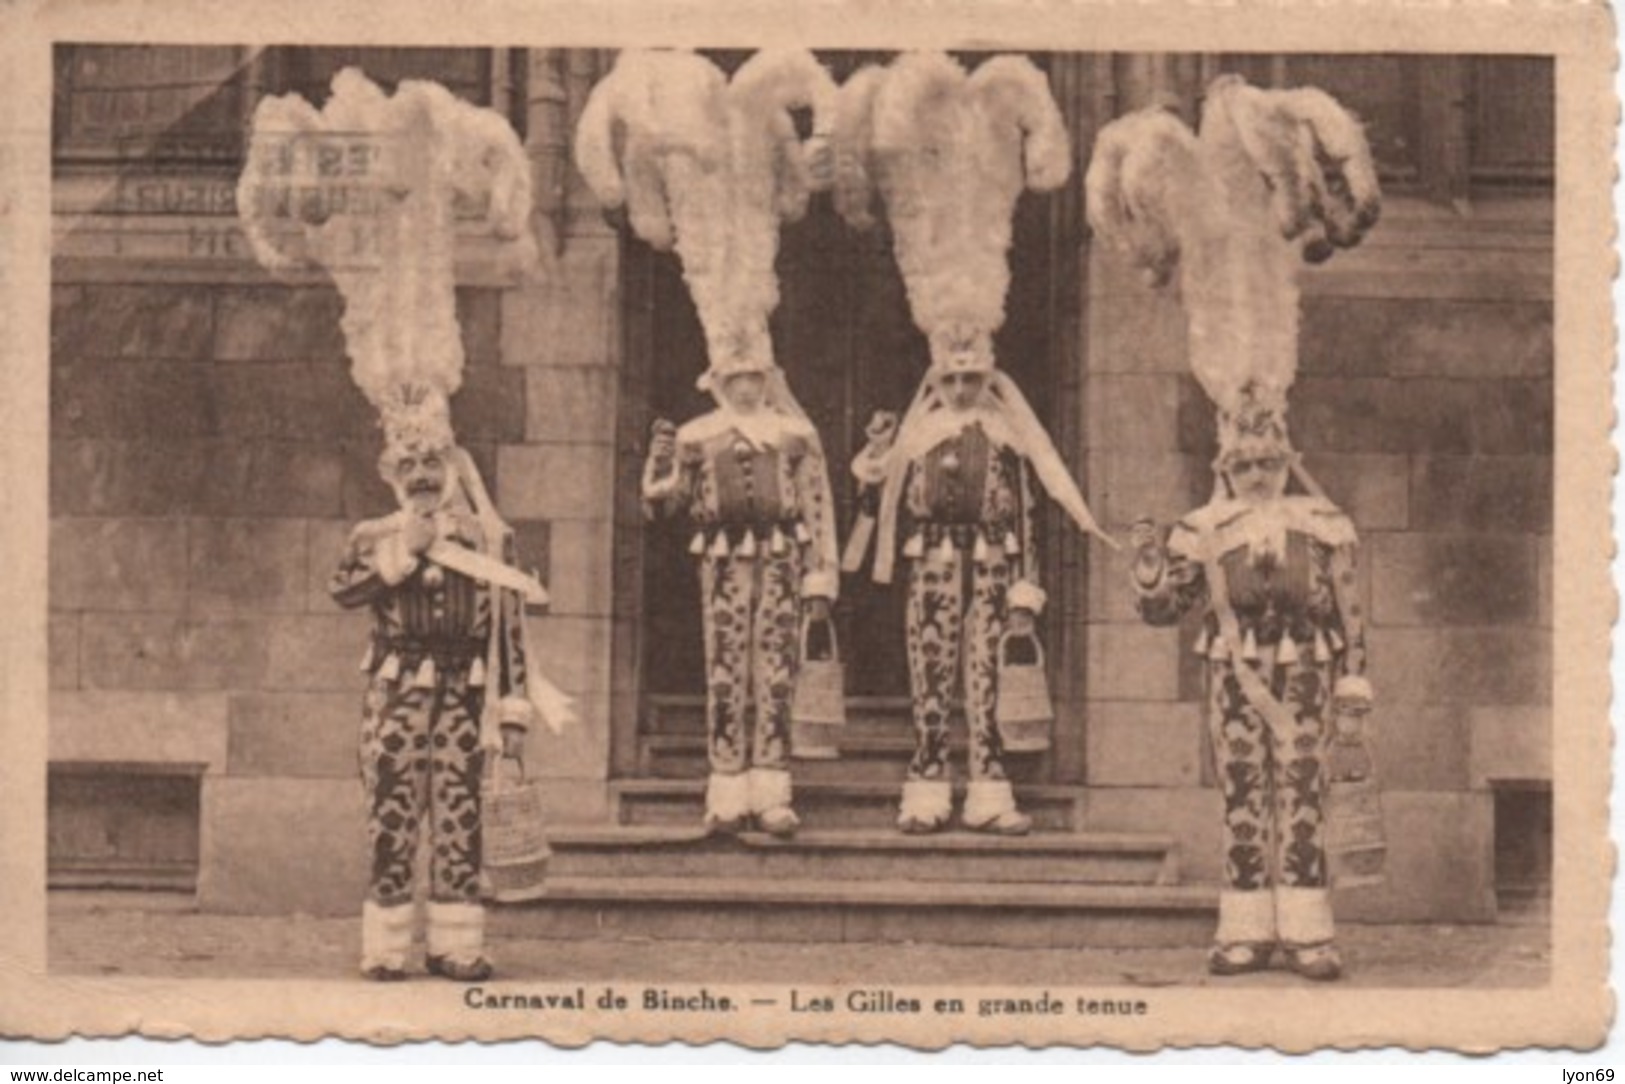
[[[644,470],[650,514],[686,514],[700,564],[705,824],[775,835],[791,804],[790,710],[803,609],[827,619],[840,588],[817,431],[774,362],[778,228],[827,174],[835,85],[804,50],[764,50],[731,80],[692,52],[626,52],[593,88],[577,164],[655,249],[676,247],[717,410],[660,421]],[[811,107],[803,141],[790,111]]]

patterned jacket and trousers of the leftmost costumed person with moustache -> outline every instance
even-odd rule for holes
[[[330,585],[338,605],[370,606],[374,616],[362,661],[369,681],[361,730],[370,899],[385,907],[411,902],[418,835],[427,819],[431,899],[473,902],[479,895],[484,705],[492,692],[525,696],[523,603],[515,592],[411,557],[400,536],[405,515],[361,523]],[[473,517],[440,514],[439,520],[444,541],[483,546]],[[502,548],[512,562],[512,538]]]

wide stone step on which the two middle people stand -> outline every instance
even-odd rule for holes
[[[561,878],[726,878],[985,884],[1176,884],[1172,837],[1035,832],[904,835],[892,829],[710,835],[699,827],[569,827],[551,835]]]

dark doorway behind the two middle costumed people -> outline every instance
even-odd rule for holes
[[[708,54],[725,70],[749,55]],[[863,62],[886,62],[886,54],[821,54],[837,80]],[[962,55],[967,67],[980,55]],[[1035,59],[1040,60],[1042,59]],[[1027,390],[1035,410],[1055,423],[1064,410],[1056,395],[1055,244],[1051,202],[1024,198],[1017,205],[1011,254],[1011,291],[1006,323],[998,335],[1001,367]],[[705,369],[705,340],[673,254],[655,254],[640,241],[622,249],[627,312],[627,358],[622,379],[622,447],[647,440],[655,418],[682,423],[713,406],[694,387]],[[925,338],[915,328],[902,276],[892,257],[884,221],[868,232],[847,226],[827,197],[816,197],[800,223],[782,232],[778,254],[780,306],[774,314],[774,348],[801,405],[811,414],[829,457],[842,541],[855,518],[855,483],[848,470],[876,410],[902,411],[930,364]],[[1066,341],[1076,341],[1066,336]],[[622,489],[637,475],[627,455],[619,473]],[[624,496],[632,496],[624,494]],[[622,501],[624,518],[629,501]],[[1050,517],[1048,509],[1040,512]],[[1040,531],[1046,528],[1040,522]],[[627,531],[622,544],[632,546]],[[1040,535],[1042,536],[1042,535]],[[681,523],[639,523],[635,559],[619,567],[635,575],[637,648],[622,655],[621,674],[635,673],[640,687],[637,728],[618,728],[622,774],[699,775],[696,756],[704,733],[704,645],[700,640],[699,582],[687,553],[689,531]],[[624,551],[626,554],[626,551]],[[626,554],[630,557],[630,554]],[[635,574],[632,569],[639,569]],[[630,587],[630,585],[627,585]],[[908,670],[904,650],[900,585],[881,587],[868,570],[842,580],[837,627],[847,661],[852,735],[882,744],[908,743]],[[626,626],[622,626],[624,629]],[[1076,728],[1074,728],[1076,731]],[[1081,743],[1081,735],[1068,739]],[[681,764],[666,752],[681,749]],[[897,757],[897,775],[907,756]],[[1048,780],[1050,757],[1027,757],[1017,777]],[[835,769],[837,765],[830,765]]]

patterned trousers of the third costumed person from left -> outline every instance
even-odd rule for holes
[[[931,553],[908,567],[908,686],[915,754],[908,778],[947,778],[947,717],[959,689],[970,726],[970,778],[1004,778],[1004,741],[993,709],[1004,634],[1009,561]]]

